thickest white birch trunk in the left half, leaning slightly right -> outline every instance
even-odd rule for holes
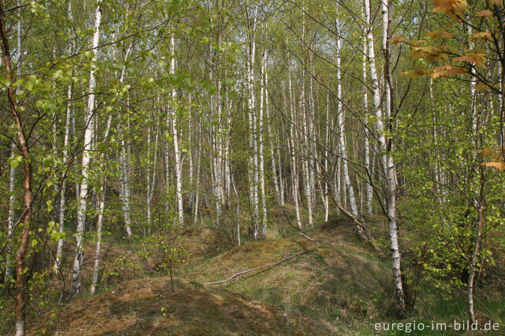
[[[93,53],[91,59],[91,70],[89,72],[89,95],[88,102],[86,106],[86,113],[84,119],[84,148],[82,151],[82,184],[80,185],[79,198],[77,204],[77,230],[75,234],[75,257],[74,266],[72,271],[72,285],[71,292],[74,296],[78,295],[81,291],[82,281],[81,281],[81,267],[84,257],[84,250],[82,246],[82,238],[84,232],[84,225],[86,222],[86,195],[88,192],[88,165],[90,161],[90,149],[91,149],[91,133],[92,133],[92,116],[94,108],[94,89],[96,87],[96,80],[94,77],[94,64],[96,62],[96,48],[100,40],[100,24],[102,23],[102,2],[96,2],[96,12],[95,12],[95,22],[94,22],[94,33],[92,40],[92,50]]]

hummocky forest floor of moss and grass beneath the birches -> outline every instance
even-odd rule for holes
[[[240,247],[233,244],[231,235],[211,226],[184,228],[169,237],[171,245],[185,246],[191,253],[189,262],[173,271],[175,294],[170,276],[146,276],[133,267],[123,269],[129,276],[118,277],[121,272],[106,267],[109,275],[102,282],[108,286],[99,294],[29,320],[29,334],[490,334],[449,328],[410,333],[375,330],[375,323],[399,322],[393,313],[390,263],[364,245],[344,217],[305,231],[318,243],[331,243],[223,284],[204,285],[318,245],[299,235],[291,207],[278,207],[270,216],[276,221],[269,229],[273,238]],[[384,246],[384,218],[366,219]],[[106,248],[108,258],[119,254]],[[141,262],[138,256],[130,259],[130,265]],[[158,269],[148,258],[143,262],[144,269]],[[114,285],[119,278],[124,282]],[[479,318],[498,322],[501,329],[505,327],[502,299],[500,293],[477,296]],[[435,294],[420,295],[416,307],[401,322],[428,325],[467,319],[464,293],[450,301]]]

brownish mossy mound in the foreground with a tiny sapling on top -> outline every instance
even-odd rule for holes
[[[330,334],[308,317],[251,301],[224,289],[201,288],[158,277],[125,283],[115,291],[80,299],[29,325],[29,335]]]

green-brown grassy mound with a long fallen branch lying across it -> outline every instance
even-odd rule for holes
[[[378,261],[374,253],[358,246],[358,239],[347,239],[352,235],[348,228],[342,232],[326,227],[307,233],[320,243],[338,241],[215,287],[280,305],[292,314],[341,325],[342,333],[348,332],[348,327],[359,328],[363,322],[384,316],[384,308],[390,305],[390,269],[387,262]],[[218,281],[315,245],[300,236],[250,243],[193,268],[186,278],[199,283]]]

